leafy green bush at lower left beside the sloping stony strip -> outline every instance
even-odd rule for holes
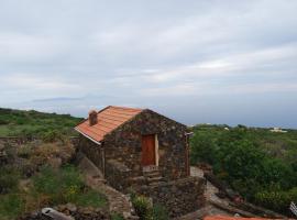
[[[74,166],[67,165],[61,169],[43,167],[41,173],[33,177],[32,191],[37,197],[46,198],[45,204],[57,205],[73,202],[84,207],[102,207],[106,197],[85,187],[82,176]]]

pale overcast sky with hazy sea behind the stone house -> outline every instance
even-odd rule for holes
[[[297,128],[296,0],[0,0],[0,107]]]

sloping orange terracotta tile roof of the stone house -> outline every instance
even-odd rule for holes
[[[103,140],[106,134],[129,121],[141,111],[143,111],[143,109],[109,106],[97,113],[97,124],[90,127],[89,120],[87,119],[78,124],[75,130],[97,142],[100,142]]]

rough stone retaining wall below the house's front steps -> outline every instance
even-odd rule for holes
[[[186,177],[154,186],[143,186],[139,194],[152,198],[153,204],[166,207],[170,218],[174,218],[204,207],[205,187],[205,179]]]

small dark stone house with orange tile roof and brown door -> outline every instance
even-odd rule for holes
[[[150,109],[109,106],[90,111],[75,130],[80,133],[79,150],[116,189],[128,193],[133,188],[155,199],[175,197],[174,205],[186,209],[178,215],[200,206],[204,183],[189,177],[186,125]],[[197,190],[189,190],[188,186],[197,186]],[[164,189],[174,191],[166,190],[168,195],[164,197]],[[180,190],[190,198],[180,196]],[[176,210],[164,202],[169,210]]]

